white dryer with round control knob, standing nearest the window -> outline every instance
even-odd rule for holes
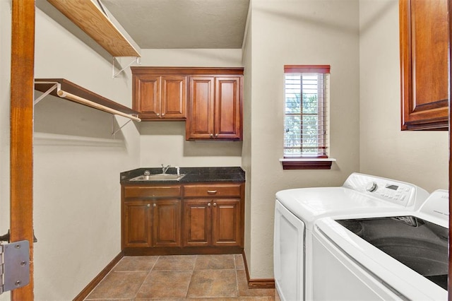
[[[414,211],[429,194],[413,184],[353,173],[342,187],[276,193],[273,261],[282,301],[313,300],[314,222],[328,216]]]

